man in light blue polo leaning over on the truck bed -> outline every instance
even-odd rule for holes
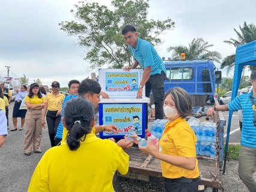
[[[130,52],[132,53],[134,62],[132,66],[125,67],[125,71],[136,68],[139,64],[144,68],[141,83],[136,98],[141,98],[142,88],[145,86],[145,96],[150,97],[152,89],[154,97],[154,105],[156,110],[155,119],[163,119],[163,97],[165,96],[165,66],[160,56],[152,44],[148,41],[138,38],[135,26],[126,25],[121,31],[124,40],[129,45]],[[148,129],[148,108],[146,107],[146,131]]]

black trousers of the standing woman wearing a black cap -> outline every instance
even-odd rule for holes
[[[46,113],[46,121],[47,121],[47,126],[49,131],[50,145],[52,147],[56,146],[54,138],[57,132],[59,121],[61,121],[61,116],[56,116],[57,112],[58,110],[55,110],[55,111],[48,110]]]

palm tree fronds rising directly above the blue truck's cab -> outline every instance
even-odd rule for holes
[[[212,59],[212,61],[221,62],[221,53],[209,50],[213,46],[208,41],[204,41],[203,38],[194,38],[188,47],[181,45],[170,46],[167,51],[172,52],[172,59],[180,59],[180,54],[185,53],[186,59],[194,59],[195,55],[198,55],[198,58],[202,58],[204,55],[206,58]]]

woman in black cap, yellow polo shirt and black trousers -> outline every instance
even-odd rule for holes
[[[46,121],[50,137],[50,145],[55,146],[55,135],[59,122],[61,121],[61,107],[64,100],[64,95],[59,92],[59,83],[52,82],[52,92],[46,95],[45,106],[43,110],[43,118],[41,125],[45,125],[44,117],[46,115]],[[47,113],[46,113],[47,111]]]

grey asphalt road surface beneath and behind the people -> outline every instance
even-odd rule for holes
[[[0,149],[0,191],[26,191],[37,166],[38,161],[47,149],[50,148],[50,140],[47,128],[43,130],[43,137],[41,139],[41,150],[43,153],[33,153],[31,156],[23,154],[23,141],[26,128],[23,131],[10,131],[13,128],[12,112],[14,101],[11,102],[9,107],[9,130],[8,137]],[[225,118],[228,121],[228,112],[224,112]],[[233,124],[231,131],[239,128],[237,112],[233,116]],[[150,122],[151,125],[152,122]],[[18,118],[18,128],[20,127],[20,118]],[[225,126],[227,127],[227,126]],[[150,126],[149,126],[150,128]],[[226,128],[227,129],[227,128]],[[230,142],[240,142],[240,131],[231,134]]]

